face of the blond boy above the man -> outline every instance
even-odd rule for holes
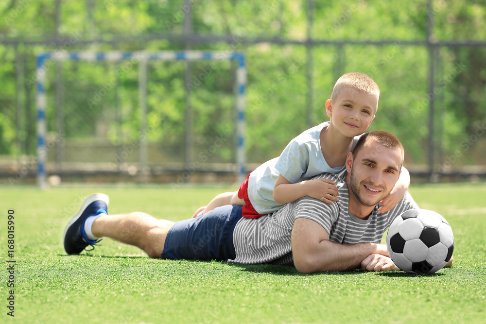
[[[334,101],[326,102],[326,112],[332,126],[344,136],[363,134],[375,118],[378,98],[353,88],[344,88]]]

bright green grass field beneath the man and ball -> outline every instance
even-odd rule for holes
[[[235,188],[0,187],[0,322],[484,323],[486,184],[415,185],[418,205],[454,231],[454,264],[433,275],[363,271],[304,275],[293,267],[156,260],[105,239],[67,256],[65,224],[93,192],[109,212],[172,221]],[[7,212],[15,210],[15,318],[8,312]]]

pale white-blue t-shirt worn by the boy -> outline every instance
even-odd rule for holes
[[[309,179],[323,172],[338,173],[344,166],[331,168],[322,155],[319,137],[329,121],[314,126],[295,137],[279,157],[271,159],[251,172],[248,178],[248,198],[260,214],[268,214],[283,205],[273,199],[273,188],[278,174],[282,174],[291,183]],[[352,148],[360,136],[353,139]]]

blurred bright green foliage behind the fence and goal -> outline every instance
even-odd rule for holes
[[[54,0],[1,0],[0,40],[53,39]],[[192,49],[242,51],[246,55],[246,152],[249,162],[277,156],[307,129],[307,38],[305,0],[191,0],[194,34],[226,35],[228,43],[192,44]],[[188,12],[182,0],[62,0],[61,47],[0,44],[0,154],[35,154],[35,56],[64,51],[183,50],[182,43],[153,40],[154,34],[182,35]],[[451,156],[461,164],[486,160],[486,48],[435,48],[435,88],[429,93],[429,52],[421,45],[427,17],[431,41],[485,41],[486,1],[425,0],[313,1],[311,36],[315,40],[396,40],[394,45],[315,45],[312,47],[312,124],[328,120],[324,103],[337,78],[349,71],[370,75],[381,88],[377,118],[371,129],[383,129],[403,142],[406,163],[428,161],[429,101],[434,96],[434,158]],[[82,40],[133,36],[111,44]],[[182,37],[182,36],[181,36]],[[247,44],[242,37],[279,37],[293,44]],[[17,127],[16,67],[20,67],[21,114]],[[194,159],[214,145],[224,145],[213,162],[234,161],[235,68],[233,62],[191,63],[191,116]],[[48,129],[58,127],[55,111],[56,64],[47,69]],[[164,161],[184,159],[186,130],[185,62],[150,62],[147,137]],[[139,136],[138,61],[62,63],[64,140],[106,138],[114,145]],[[21,139],[20,152],[17,136]],[[204,155],[204,154],[203,154]],[[450,160],[450,159],[449,159]],[[443,162],[441,162],[443,161]],[[455,161],[455,160],[454,160]]]

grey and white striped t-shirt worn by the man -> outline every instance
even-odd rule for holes
[[[384,231],[395,217],[406,210],[418,208],[412,196],[406,192],[392,210],[378,213],[377,204],[368,219],[359,219],[348,211],[346,176],[345,169],[338,174],[323,173],[312,178],[327,178],[336,182],[339,201],[332,205],[303,197],[263,217],[243,217],[233,232],[236,258],[228,262],[293,265],[291,237],[297,218],[307,218],[321,225],[329,233],[329,239],[336,243],[380,243]]]

